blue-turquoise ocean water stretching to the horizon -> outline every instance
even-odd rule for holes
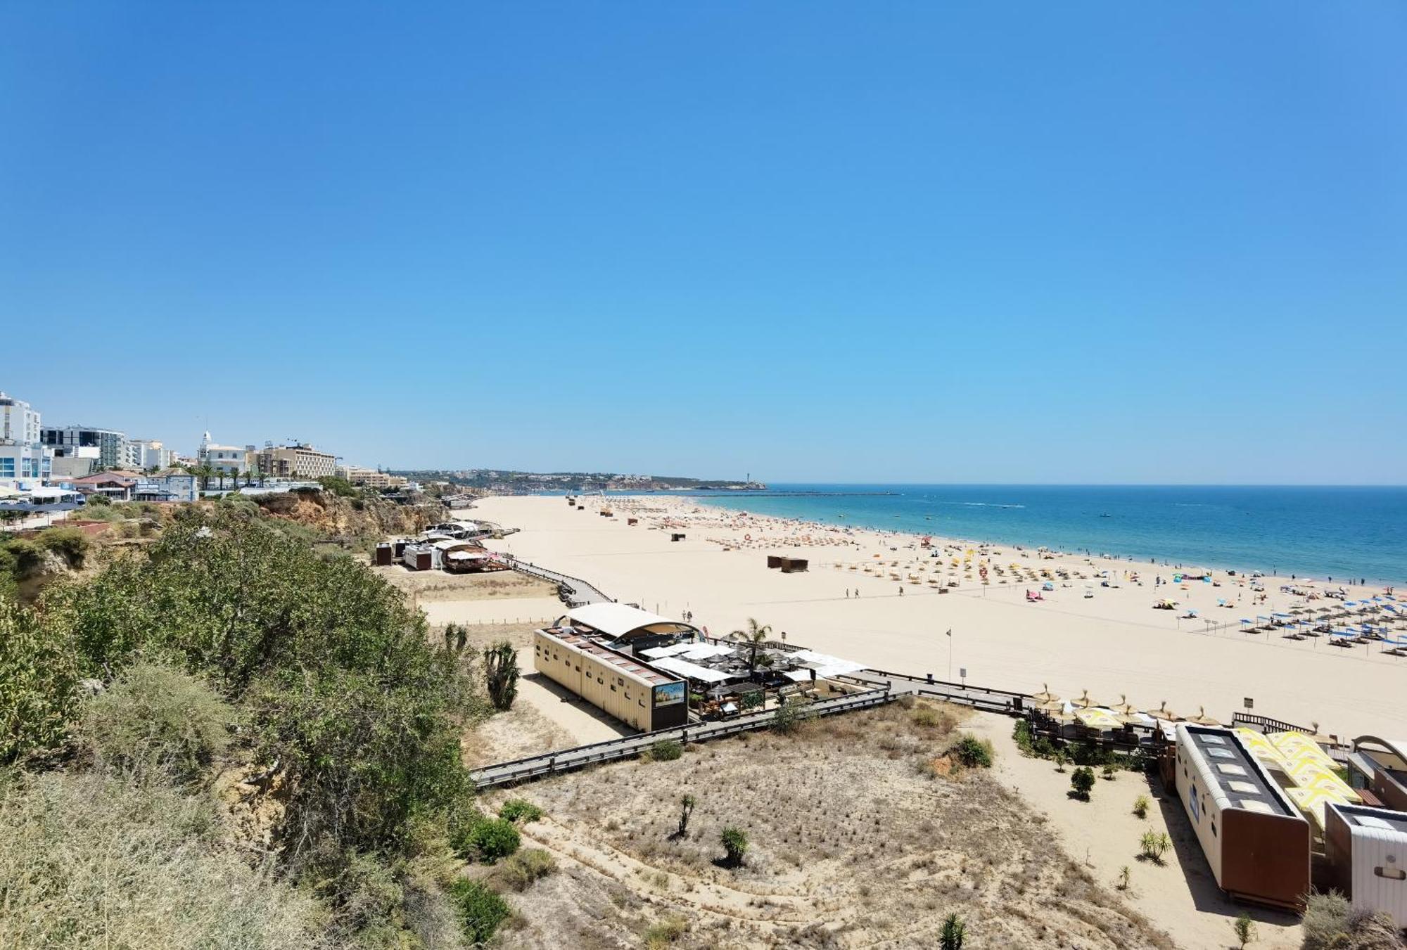
[[[829,524],[1407,583],[1407,488],[772,485],[688,495]]]

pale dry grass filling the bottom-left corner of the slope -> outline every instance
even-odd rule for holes
[[[326,947],[314,901],[222,843],[208,800],[96,774],[0,801],[3,947]]]

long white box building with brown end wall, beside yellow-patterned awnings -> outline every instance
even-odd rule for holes
[[[1230,897],[1299,909],[1310,891],[1310,824],[1233,729],[1176,725],[1178,798]]]

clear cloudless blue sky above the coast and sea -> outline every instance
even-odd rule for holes
[[[10,0],[0,388],[371,465],[1400,483],[1404,49],[1400,0]]]

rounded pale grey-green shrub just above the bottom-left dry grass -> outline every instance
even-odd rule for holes
[[[190,783],[224,753],[235,718],[194,676],[138,662],[84,704],[80,738],[100,767]]]

